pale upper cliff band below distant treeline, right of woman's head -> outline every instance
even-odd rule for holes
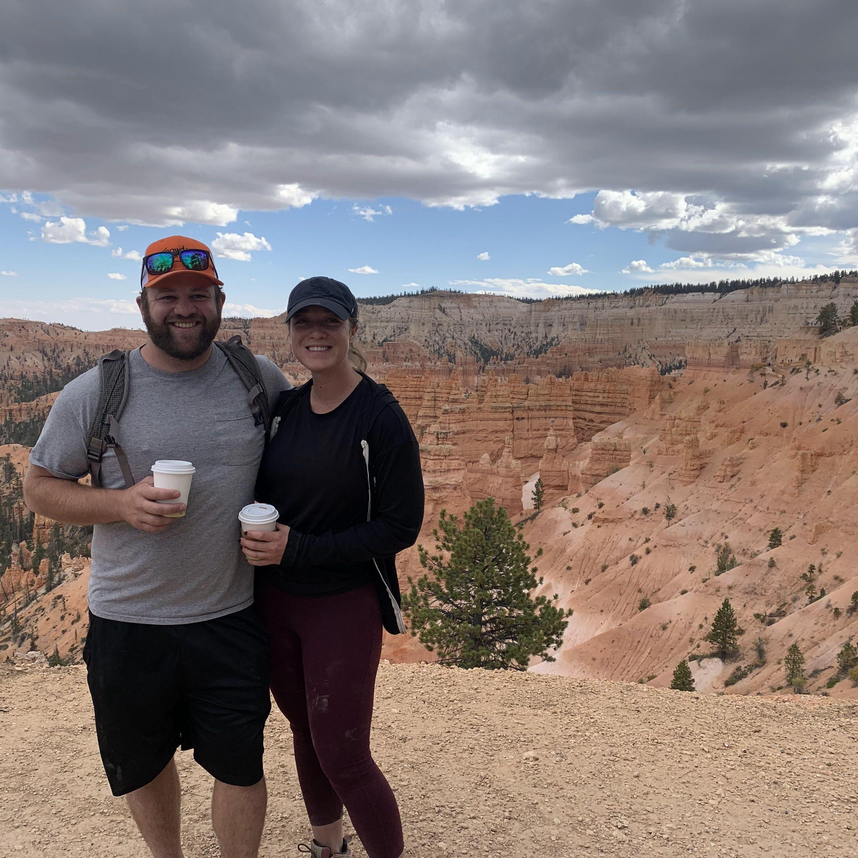
[[[571,374],[599,366],[668,361],[686,356],[686,342],[748,339],[774,347],[812,323],[825,304],[841,315],[858,298],[858,283],[795,283],[716,293],[609,294],[523,304],[492,295],[430,293],[385,305],[362,305],[368,345],[408,340],[433,355],[456,351],[493,357],[526,374]],[[740,360],[753,347],[740,345]],[[732,360],[732,359],[730,359]],[[613,362],[613,364],[612,364]],[[541,369],[541,367],[545,369]]]

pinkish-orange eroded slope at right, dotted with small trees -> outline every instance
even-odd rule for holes
[[[831,337],[826,353],[849,353],[856,341],[850,329]],[[629,445],[626,467],[583,485],[576,513],[560,498],[525,526],[531,545],[545,549],[544,592],[575,610],[557,662],[535,669],[666,686],[682,658],[710,651],[704,635],[728,598],[746,630],[740,653],[726,664],[692,662],[698,690],[724,689],[740,667],[728,692],[782,687],[782,657],[795,643],[811,691],[858,695],[845,679],[825,688],[839,675],[837,652],[858,635],[855,371],[855,362],[837,362],[813,366],[809,378],[789,364],[752,378],[745,370],[674,377],[662,414],[650,408],[612,426],[607,449],[595,438],[590,460],[606,459],[599,471],[619,440]],[[782,545],[769,549],[776,527]],[[737,565],[718,574],[725,545]],[[801,577],[811,564],[815,594],[825,591],[813,601]],[[651,606],[642,609],[644,598]]]

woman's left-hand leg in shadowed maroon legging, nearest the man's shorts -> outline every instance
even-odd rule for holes
[[[269,636],[271,693],[292,728],[301,795],[304,796],[310,824],[315,829],[338,821],[341,823],[342,802],[325,776],[313,748],[301,640],[292,625],[295,598],[275,587],[264,587],[257,594],[257,610]],[[341,842],[342,838],[335,851],[339,851]]]

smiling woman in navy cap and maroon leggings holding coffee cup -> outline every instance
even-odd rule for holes
[[[403,631],[394,557],[417,540],[423,480],[399,403],[353,366],[366,368],[352,344],[357,316],[348,287],[327,277],[289,296],[293,353],[312,378],[282,395],[260,466],[257,499],[281,523],[241,541],[261,567],[271,692],[292,726],[314,858],[349,855],[343,805],[370,858],[402,855],[370,725],[382,625]]]

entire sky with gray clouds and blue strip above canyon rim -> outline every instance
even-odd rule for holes
[[[546,296],[858,267],[855,0],[0,0],[0,316],[139,257]]]

